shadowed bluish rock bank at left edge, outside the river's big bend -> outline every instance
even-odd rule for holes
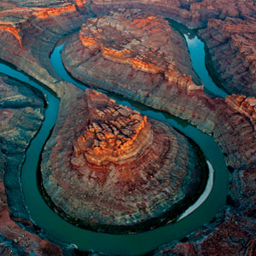
[[[26,148],[44,119],[43,96],[3,75],[0,91],[0,254],[61,255],[60,247],[27,231],[33,226],[20,188]]]

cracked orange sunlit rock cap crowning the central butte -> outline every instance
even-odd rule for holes
[[[87,91],[90,99],[89,123],[74,143],[74,157],[84,155],[92,164],[124,163],[137,156],[146,144],[152,143],[151,125],[147,117],[123,107],[96,91]],[[100,104],[107,101],[107,108]],[[73,159],[77,163],[77,160]]]

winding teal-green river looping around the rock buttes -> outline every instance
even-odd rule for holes
[[[201,77],[207,90],[212,91],[214,95],[224,97],[224,90],[219,89],[218,86],[212,82],[212,79],[207,73],[204,65],[204,44],[197,37],[189,38],[189,36],[185,35],[185,38],[189,46],[195,72]],[[55,72],[59,74],[61,79],[67,80],[84,90],[86,86],[73,80],[63,67],[61,62],[62,48],[63,44],[55,47],[51,55],[51,62],[55,68]],[[198,65],[198,63],[203,63],[203,65]],[[67,221],[60,218],[47,206],[40,195],[37,183],[40,154],[44,143],[49,137],[49,132],[55,125],[59,109],[59,100],[56,99],[49,90],[45,90],[42,86],[29,79],[25,74],[5,64],[0,64],[0,70],[2,73],[6,73],[15,79],[19,79],[20,81],[38,88],[38,90],[44,93],[49,102],[49,106],[45,112],[44,123],[26,152],[26,161],[21,173],[21,183],[26,207],[28,212],[30,212],[32,220],[50,236],[59,241],[75,244],[79,247],[79,250],[83,251],[98,251],[119,255],[138,255],[148,253],[168,241],[182,239],[202,224],[211,221],[218,210],[224,206],[228,189],[228,171],[225,166],[224,156],[212,137],[197,130],[195,126],[189,125],[187,121],[178,119],[168,113],[162,113],[153,108],[143,106],[140,103],[127,101],[123,97],[108,94],[108,96],[111,96],[119,104],[130,106],[132,109],[137,109],[144,115],[164,121],[193,139],[205,154],[210,169],[207,188],[200,199],[195,202],[195,205],[189,207],[181,218],[179,218],[177,223],[166,224],[160,228],[143,233],[134,235],[109,235],[106,233],[83,230],[67,223]]]

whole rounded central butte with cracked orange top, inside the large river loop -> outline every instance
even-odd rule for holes
[[[90,229],[148,230],[204,189],[207,165],[194,143],[102,93],[87,89],[58,123],[43,154],[44,189]]]

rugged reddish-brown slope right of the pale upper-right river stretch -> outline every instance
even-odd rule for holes
[[[206,41],[210,68],[230,92],[256,94],[256,19],[209,20],[201,37]]]

